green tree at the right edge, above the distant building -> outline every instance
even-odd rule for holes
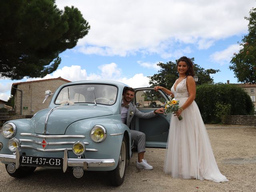
[[[238,81],[243,83],[256,83],[256,8],[250,10],[248,34],[244,36],[238,53],[234,53],[229,66],[234,71]]]

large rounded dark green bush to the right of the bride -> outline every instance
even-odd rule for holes
[[[222,115],[252,115],[250,96],[234,84],[202,84],[196,89],[196,103],[205,123],[221,122]]]

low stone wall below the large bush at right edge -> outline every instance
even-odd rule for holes
[[[232,125],[253,125],[256,126],[255,115],[228,115],[222,118],[222,123]]]

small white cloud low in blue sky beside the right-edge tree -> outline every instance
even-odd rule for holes
[[[225,50],[214,52],[210,55],[210,59],[220,65],[229,63],[234,53],[240,50],[240,45],[234,44],[228,46]]]

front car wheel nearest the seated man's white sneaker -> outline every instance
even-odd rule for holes
[[[121,144],[118,164],[114,170],[110,171],[110,182],[113,186],[120,186],[124,182],[127,162],[127,142],[124,137]]]

